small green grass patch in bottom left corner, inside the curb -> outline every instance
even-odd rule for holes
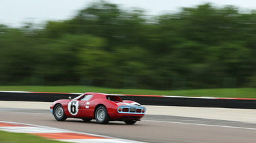
[[[45,138],[35,136],[32,134],[24,134],[24,133],[13,133],[13,132],[4,132],[0,130],[0,143],[1,142],[9,142],[9,143],[61,143],[57,140],[47,140]]]

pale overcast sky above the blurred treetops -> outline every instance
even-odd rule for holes
[[[23,23],[41,23],[48,20],[70,19],[80,9],[97,0],[0,0],[0,23],[20,27]],[[256,9],[255,0],[105,0],[120,5],[122,9],[138,7],[147,15],[175,13],[181,7],[196,7],[213,3],[217,7],[234,5],[240,9]]]

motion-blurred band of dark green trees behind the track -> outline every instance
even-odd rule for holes
[[[207,3],[155,17],[98,1],[43,28],[0,25],[1,85],[256,87],[256,12]]]

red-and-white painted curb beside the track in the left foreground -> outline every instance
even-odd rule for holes
[[[83,132],[74,132],[71,130],[63,130],[59,128],[37,126],[32,124],[21,124],[16,122],[0,121],[0,130],[3,130],[5,132],[33,134],[36,136],[47,138],[49,140],[59,140],[64,142],[145,143],[145,142],[137,142],[134,140],[111,138],[109,136],[87,134]]]

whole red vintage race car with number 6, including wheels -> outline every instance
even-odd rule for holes
[[[109,121],[124,121],[134,124],[145,115],[146,108],[134,101],[124,100],[118,95],[84,93],[74,99],[61,99],[51,104],[51,113],[58,121],[67,117],[81,118],[85,122],[95,119],[99,124]]]

